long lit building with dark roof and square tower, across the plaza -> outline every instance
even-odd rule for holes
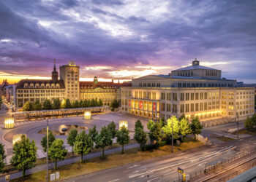
[[[103,104],[110,106],[114,99],[120,99],[120,87],[131,86],[132,84],[117,84],[112,82],[79,82],[80,67],[74,61],[67,65],[60,66],[60,76],[56,71],[54,63],[52,79],[23,79],[15,87],[15,108],[22,108],[27,101],[34,103],[39,100],[43,103],[46,99],[53,101],[59,98],[61,101],[69,98],[75,100],[101,99]]]

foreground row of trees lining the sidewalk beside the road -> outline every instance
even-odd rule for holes
[[[179,120],[179,121],[178,121]],[[180,136],[188,134],[200,134],[203,126],[200,124],[198,117],[192,120],[189,124],[188,120],[182,116],[180,119],[176,119],[173,116],[167,119],[160,119],[159,122],[149,120],[147,123],[149,132],[144,131],[143,124],[138,120],[135,123],[135,141],[140,144],[140,149],[146,144],[148,137],[151,143],[154,145],[161,140],[171,138],[173,130],[173,139],[178,139]],[[102,150],[102,158],[105,157],[105,149],[111,146],[113,138],[117,138],[117,142],[122,146],[122,154],[124,154],[124,145],[129,144],[129,130],[127,127],[121,127],[121,130],[116,130],[116,124],[110,122],[107,126],[101,128],[100,132],[96,130],[96,126],[89,129],[89,133],[83,130],[78,134],[78,130],[71,130],[67,137],[67,143],[72,146],[72,154],[74,152],[81,157],[83,162],[83,156],[89,154],[94,148]],[[47,149],[47,138],[42,138],[41,145],[44,151]],[[51,161],[57,162],[64,159],[67,156],[67,149],[64,146],[64,141],[59,138],[55,138],[50,131],[48,135],[48,157]],[[0,144],[0,170],[4,167],[4,145]],[[13,146],[13,156],[10,161],[11,165],[15,166],[17,170],[23,171],[25,176],[26,169],[32,167],[34,162],[37,162],[37,146],[36,143],[26,138],[26,135],[22,135],[20,141]]]

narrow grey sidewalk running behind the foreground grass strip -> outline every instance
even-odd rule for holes
[[[139,148],[140,145],[138,143],[135,143],[135,144],[131,144],[131,145],[128,145],[128,146],[124,146],[124,149],[125,150],[128,150],[128,149],[134,149],[134,148]],[[115,148],[115,149],[109,149],[109,150],[106,150],[105,151],[105,155],[108,155],[108,154],[113,154],[113,153],[116,153],[116,152],[119,152],[121,151],[121,147],[118,147],[118,148]],[[91,153],[91,154],[88,154],[88,155],[84,155],[83,156],[83,159],[92,159],[92,158],[95,158],[95,157],[101,157],[102,156],[102,151],[98,151],[98,152],[95,152],[95,153]],[[71,158],[71,159],[65,159],[65,160],[62,160],[62,161],[58,161],[57,163],[57,166],[60,167],[60,166],[64,166],[64,165],[70,165],[72,163],[75,163],[75,162],[80,162],[80,157],[74,157],[74,158]],[[54,166],[54,163],[49,163],[48,164],[48,168],[49,169],[53,169],[53,166]],[[37,173],[39,171],[42,171],[42,170],[46,170],[46,164],[45,165],[37,165],[36,167],[33,167],[29,170],[26,170],[26,175],[29,175],[29,174],[32,174],[32,173]],[[19,171],[17,173],[12,173],[10,174],[10,179],[15,179],[15,178],[19,178],[22,176],[22,171]],[[0,181],[5,181],[5,176],[0,176]]]

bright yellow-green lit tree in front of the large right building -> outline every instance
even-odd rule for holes
[[[170,119],[167,119],[167,124],[162,127],[162,131],[166,138],[172,138],[173,134],[173,139],[178,139],[178,119],[176,116],[172,116]]]

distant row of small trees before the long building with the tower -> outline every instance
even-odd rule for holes
[[[44,103],[40,103],[39,100],[36,100],[34,103],[27,101],[23,106],[23,111],[40,111],[40,110],[50,110],[50,109],[59,109],[59,108],[86,108],[94,106],[103,106],[102,100],[91,99],[91,100],[75,100],[70,102],[67,98],[62,101],[59,98],[53,100],[53,103],[49,99],[46,99]]]

